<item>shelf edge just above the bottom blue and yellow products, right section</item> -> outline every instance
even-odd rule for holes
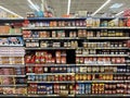
[[[76,83],[125,83],[125,81],[76,81]]]

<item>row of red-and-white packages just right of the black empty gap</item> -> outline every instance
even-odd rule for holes
[[[104,64],[125,64],[125,57],[77,57],[76,63],[84,63],[89,65],[104,65]]]

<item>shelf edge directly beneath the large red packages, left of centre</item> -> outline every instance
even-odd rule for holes
[[[26,66],[75,66],[76,64],[26,64]]]

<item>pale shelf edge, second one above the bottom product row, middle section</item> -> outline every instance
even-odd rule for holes
[[[27,73],[26,75],[75,75],[75,73]]]

